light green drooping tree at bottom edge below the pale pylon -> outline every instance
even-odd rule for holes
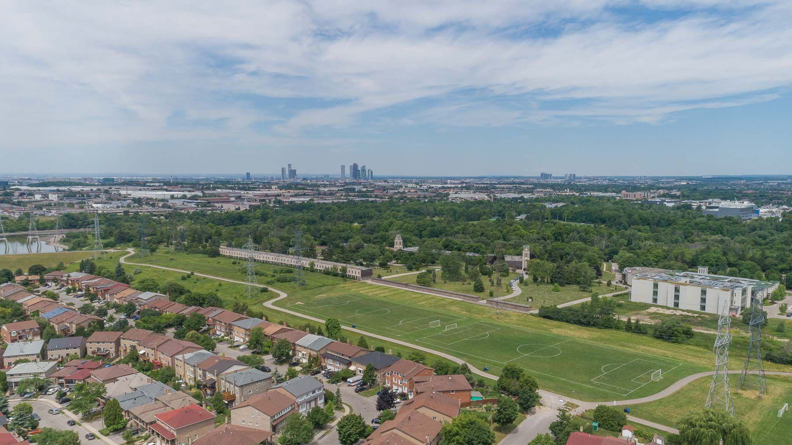
[[[742,420],[723,411],[704,409],[679,421],[682,445],[751,445],[751,432]]]

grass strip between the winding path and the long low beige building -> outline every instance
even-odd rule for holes
[[[211,274],[215,276],[224,276],[233,280],[245,280],[245,272],[242,272],[242,264],[244,261],[233,260],[226,257],[210,258],[206,255],[198,255],[191,253],[170,253],[170,252],[157,252],[150,257],[143,258],[130,258],[128,261],[132,263],[145,263],[157,264],[168,268],[178,268],[192,272],[200,272]],[[237,264],[234,264],[236,262]],[[257,276],[259,284],[265,286],[272,286],[280,291],[294,292],[301,289],[311,289],[314,287],[329,286],[333,284],[343,283],[344,278],[337,276],[329,276],[318,272],[310,272],[305,270],[305,287],[298,287],[295,283],[277,282],[276,276],[293,276],[293,274],[277,274],[274,271],[276,268],[283,268],[273,264],[257,263],[256,271],[268,274],[267,276]],[[272,283],[269,283],[272,281]]]

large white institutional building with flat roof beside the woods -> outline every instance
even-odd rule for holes
[[[710,314],[727,305],[729,314],[737,315],[751,306],[757,292],[768,295],[777,287],[778,281],[710,275],[706,267],[699,267],[699,272],[640,273],[632,280],[630,301]]]

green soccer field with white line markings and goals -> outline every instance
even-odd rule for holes
[[[653,394],[690,373],[683,363],[657,356],[348,290],[290,297],[284,306],[470,359],[496,374],[505,365],[516,364],[540,381],[556,381],[556,388],[572,388],[576,395],[604,400]]]

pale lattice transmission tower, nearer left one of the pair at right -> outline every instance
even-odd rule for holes
[[[729,386],[729,343],[732,341],[732,334],[729,333],[731,317],[729,316],[729,302],[718,300],[718,336],[715,337],[715,372],[710,382],[710,393],[706,395],[706,408],[722,409],[729,416],[734,415],[732,405],[732,390]]]

